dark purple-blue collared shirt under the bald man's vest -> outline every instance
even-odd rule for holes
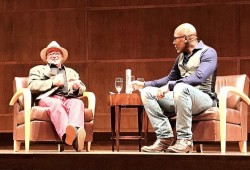
[[[197,51],[201,50],[205,44],[202,41],[199,41],[197,46],[193,49],[193,54]],[[183,64],[185,65],[190,57],[186,53],[184,53],[185,59],[183,60]],[[169,83],[169,89],[173,90],[174,86],[179,83],[183,82],[186,84],[190,84],[193,86],[200,85],[204,82],[211,74],[214,73],[217,67],[217,53],[216,51],[209,47],[201,56],[200,66],[197,68],[194,74],[191,74],[187,77],[181,77],[180,70],[178,68],[178,57],[174,63],[172,70],[170,71],[169,75],[153,81],[146,81],[145,86],[154,86],[154,87],[162,87]]]

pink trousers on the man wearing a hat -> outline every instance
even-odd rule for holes
[[[84,128],[84,104],[80,99],[55,95],[42,98],[38,105],[48,108],[47,113],[61,139],[68,125]]]

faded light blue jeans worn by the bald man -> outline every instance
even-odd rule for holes
[[[156,87],[141,89],[142,102],[157,138],[174,136],[168,117],[176,115],[177,139],[192,139],[192,116],[213,105],[208,94],[185,83],[175,85],[162,99],[157,99],[156,94]]]

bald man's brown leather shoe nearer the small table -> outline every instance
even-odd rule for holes
[[[174,142],[174,138],[157,139],[151,146],[143,146],[143,152],[164,152]]]

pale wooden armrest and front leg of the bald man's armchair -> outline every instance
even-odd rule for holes
[[[227,96],[228,93],[234,93],[240,96],[247,104],[250,104],[250,99],[243,91],[233,87],[224,86],[220,89],[219,95],[219,113],[220,113],[220,136],[221,136],[221,152],[226,152],[226,113],[227,113]]]

